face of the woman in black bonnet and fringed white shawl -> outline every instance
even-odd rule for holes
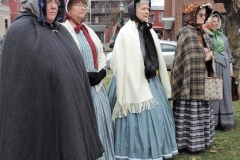
[[[136,16],[142,22],[147,21],[148,17],[149,17],[149,5],[148,4],[141,4],[140,6],[138,6],[136,8]]]

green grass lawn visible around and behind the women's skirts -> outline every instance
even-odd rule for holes
[[[108,70],[104,78],[106,89],[111,78],[112,71]],[[235,126],[228,130],[216,130],[214,145],[210,149],[199,153],[181,151],[169,160],[240,160],[240,101],[233,102],[233,111]]]

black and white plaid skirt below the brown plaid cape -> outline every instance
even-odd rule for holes
[[[180,100],[173,102],[178,149],[204,151],[213,144],[214,117],[211,102]]]

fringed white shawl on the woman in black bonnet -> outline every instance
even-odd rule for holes
[[[167,97],[170,98],[171,86],[160,43],[153,29],[151,33],[159,60],[159,78]],[[138,29],[134,21],[129,20],[118,33],[110,65],[117,87],[117,102],[112,113],[113,121],[116,118],[126,117],[128,112],[141,113],[151,109],[157,103],[144,74],[144,60]]]

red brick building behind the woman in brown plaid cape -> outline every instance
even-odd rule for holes
[[[222,13],[224,18],[227,19],[223,4],[214,4],[213,0],[165,0],[164,17],[162,19],[164,24],[164,39],[176,41],[176,35],[185,21],[185,15],[183,14],[184,8],[189,4],[202,4],[208,2],[213,5],[214,10]]]

